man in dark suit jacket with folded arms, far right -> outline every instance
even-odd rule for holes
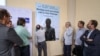
[[[83,56],[100,56],[100,31],[96,29],[98,22],[96,20],[90,20],[87,30],[81,37],[84,43],[84,55]]]

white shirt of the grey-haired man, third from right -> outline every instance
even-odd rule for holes
[[[69,27],[65,30],[64,33],[64,44],[72,45],[72,37],[73,37],[73,28]]]

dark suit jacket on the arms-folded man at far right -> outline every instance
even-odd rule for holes
[[[100,31],[95,29],[91,34],[89,39],[93,39],[93,41],[86,41],[87,38],[84,39],[84,36],[87,37],[89,30],[87,30],[82,36],[81,40],[88,45],[87,47],[87,55],[88,56],[100,56]]]

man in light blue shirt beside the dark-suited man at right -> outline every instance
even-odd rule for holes
[[[84,34],[86,29],[84,28],[84,21],[78,22],[78,30],[76,30],[75,34],[75,53],[76,56],[83,56],[83,50],[82,50],[82,41],[80,40],[80,37]]]

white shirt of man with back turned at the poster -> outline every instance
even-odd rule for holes
[[[35,33],[35,42],[36,44],[39,42],[45,41],[45,30],[44,29],[39,29]]]

